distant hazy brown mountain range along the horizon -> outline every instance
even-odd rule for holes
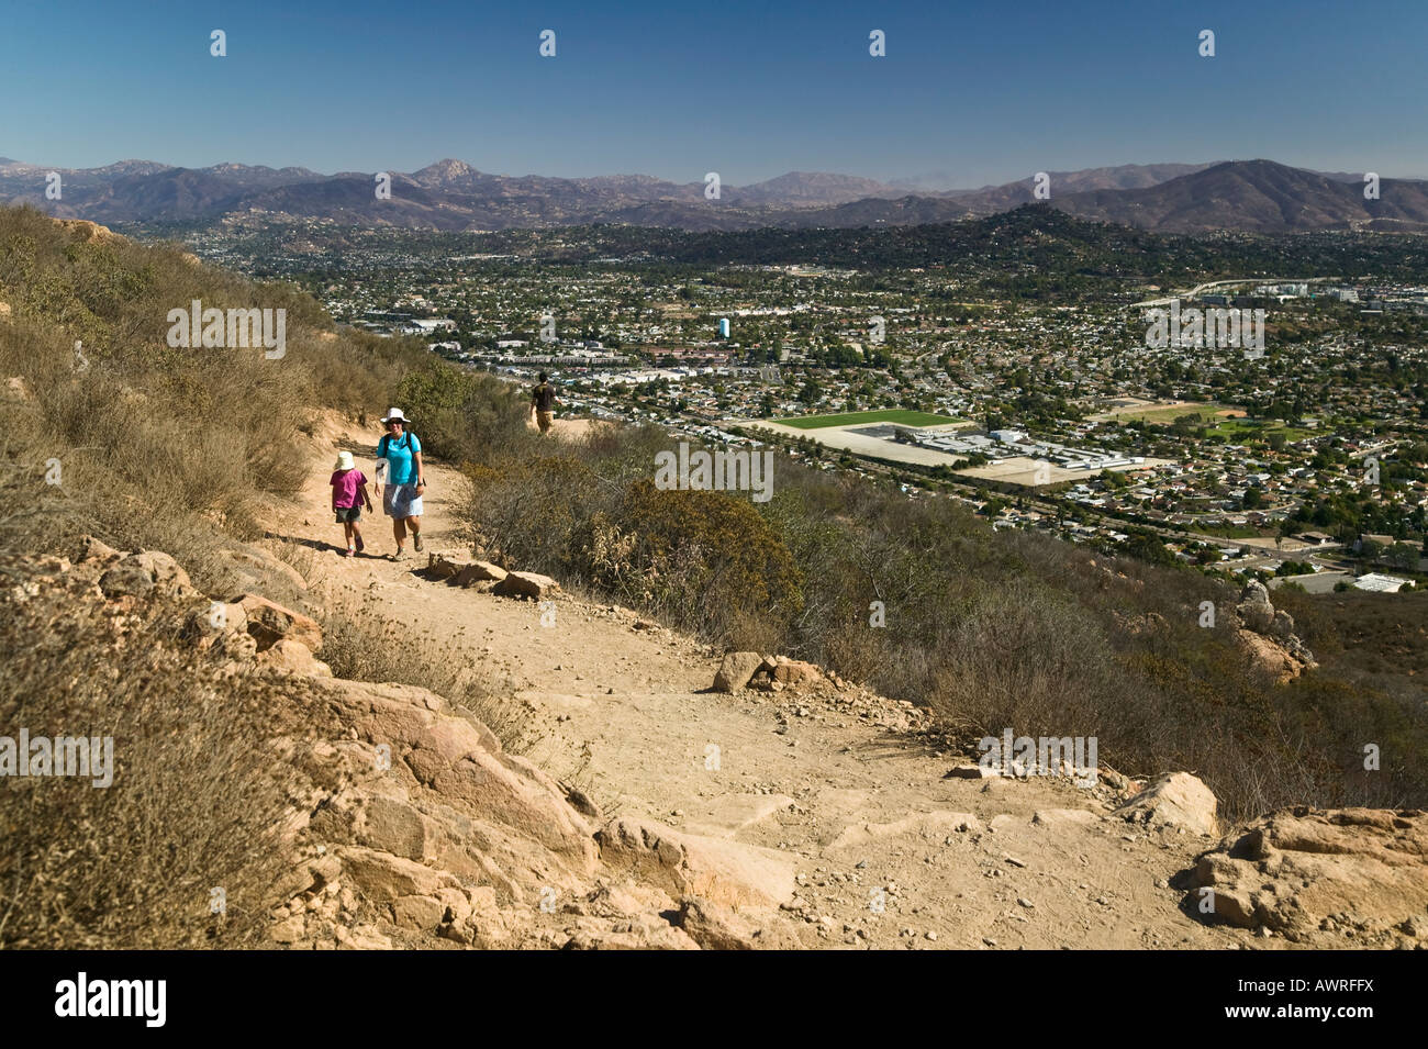
[[[57,168],[61,198],[47,200],[50,170],[0,158],[0,203],[30,203],[57,217],[99,223],[270,216],[474,231],[590,223],[683,230],[915,225],[998,214],[1035,198],[1030,177],[975,190],[910,193],[907,183],[790,171],[751,186],[721,186],[720,197],[710,200],[703,181],[497,176],[461,160],[440,160],[410,174],[391,173],[391,197],[378,200],[373,173],[327,176],[248,164],[184,168],[121,160],[97,168]],[[1361,174],[1308,171],[1269,160],[1048,174],[1052,207],[1145,230],[1428,231],[1428,181],[1421,180],[1385,178],[1378,200],[1365,200]]]

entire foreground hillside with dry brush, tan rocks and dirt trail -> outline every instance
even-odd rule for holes
[[[1215,948],[1250,929],[1264,946],[1424,942],[1428,816],[1261,816],[1419,798],[1411,756],[1379,784],[1341,754],[1357,761],[1365,725],[1385,754],[1418,754],[1417,692],[1388,702],[1324,672],[1258,682],[1232,648],[1238,614],[1224,638],[1185,624],[1202,594],[1185,579],[998,537],[951,507],[787,467],[771,510],[833,512],[790,514],[780,532],[730,497],[645,500],[665,435],[565,440],[580,427],[561,421],[541,438],[520,391],[334,330],[280,285],[89,223],[0,223],[0,722],[114,742],[111,789],[46,768],[3,776],[0,946]],[[288,308],[293,353],[273,367],[253,347],[166,347],[166,308],[197,297]],[[368,462],[388,404],[464,462],[430,464],[430,565],[371,557],[391,549],[380,517],[368,557],[331,547],[334,454]],[[704,545],[631,559],[618,532],[574,527],[598,514]],[[891,538],[921,525],[930,545],[883,544],[880,515]],[[591,554],[613,574],[593,574]],[[875,635],[885,647],[840,655],[865,634],[857,618],[840,632],[837,609],[861,611],[870,565],[908,567],[905,615]],[[506,568],[573,592],[447,578]],[[823,585],[848,579],[851,598]],[[824,609],[821,634],[720,622],[791,617],[803,598]],[[977,629],[918,648],[912,617],[935,627],[958,599]],[[651,609],[690,637],[640,618]],[[1240,609],[1251,627],[1271,611]],[[1098,735],[1137,778],[985,778],[974,739],[778,649],[975,735]],[[917,681],[928,652],[937,674]],[[1087,706],[1112,689],[1115,704]],[[0,771],[14,755],[0,736]],[[1161,778],[1184,768],[1195,775]]]

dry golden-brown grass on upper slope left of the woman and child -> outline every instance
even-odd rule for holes
[[[169,347],[167,313],[193,298],[287,310],[286,355]],[[177,250],[86,243],[30,208],[0,208],[0,300],[11,307],[0,377],[29,392],[7,407],[24,412],[29,451],[63,462],[64,492],[89,518],[79,527],[167,549],[200,575],[213,524],[254,538],[258,497],[301,485],[297,440],[316,410],[386,404],[421,360],[414,344],[331,331],[291,287]]]

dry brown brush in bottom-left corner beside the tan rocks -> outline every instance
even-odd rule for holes
[[[107,788],[4,778],[0,945],[251,946],[283,902],[294,779],[281,748],[320,731],[321,712],[281,679],[220,676],[176,624],[174,608],[141,604],[120,635],[69,579],[11,577],[0,594],[4,732],[109,735],[116,766]]]

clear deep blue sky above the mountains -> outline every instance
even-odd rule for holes
[[[0,156],[56,167],[1428,176],[1428,0],[11,0],[0,24]]]

